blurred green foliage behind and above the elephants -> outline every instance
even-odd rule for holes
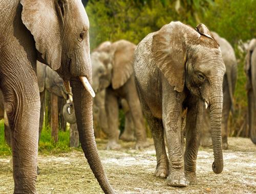
[[[138,44],[148,33],[175,20],[193,28],[204,23],[211,31],[227,39],[238,60],[230,135],[248,137],[246,76],[243,70],[245,53],[238,46],[256,37],[255,0],[89,0],[83,3],[90,20],[91,50],[106,40],[126,39]],[[121,129],[122,126],[121,117]]]

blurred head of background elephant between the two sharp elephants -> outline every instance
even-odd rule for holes
[[[133,59],[136,45],[119,40],[103,42],[91,55],[93,88],[96,92],[112,85],[121,87],[133,74]]]

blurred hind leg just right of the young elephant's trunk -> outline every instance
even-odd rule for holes
[[[223,79],[223,108],[221,118],[221,134],[222,134],[222,148],[228,149],[227,137],[228,137],[228,117],[231,110],[231,96],[228,88],[228,81],[226,76]],[[230,83],[231,84],[231,83]]]

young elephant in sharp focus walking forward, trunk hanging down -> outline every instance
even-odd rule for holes
[[[198,31],[170,22],[148,34],[135,51],[135,82],[156,148],[155,176],[170,186],[196,184],[196,159],[204,102],[210,108],[215,161],[223,170],[221,113],[225,65],[217,42],[204,25]],[[182,120],[186,114],[183,155]],[[166,134],[169,159],[165,151]],[[184,158],[183,158],[184,156]]]

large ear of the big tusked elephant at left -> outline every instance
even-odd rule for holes
[[[35,40],[41,58],[54,70],[61,63],[61,27],[66,12],[66,0],[20,0],[22,21]]]

